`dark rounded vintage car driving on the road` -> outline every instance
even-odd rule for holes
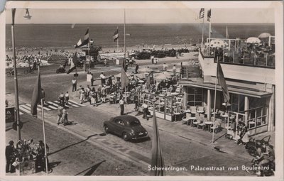
[[[129,115],[116,116],[109,121],[104,121],[104,131],[114,133],[124,138],[124,141],[148,138],[148,133],[140,121]]]

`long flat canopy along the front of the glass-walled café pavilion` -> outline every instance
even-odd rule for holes
[[[204,83],[202,78],[192,78],[188,80],[181,80],[180,85],[185,87],[200,87],[205,89],[215,89],[215,84],[212,83]],[[263,97],[269,97],[272,93],[270,92],[263,92],[259,89],[254,89],[253,87],[250,87],[248,84],[247,87],[240,87],[234,84],[228,84],[229,93],[232,94],[240,94],[244,96],[249,97],[256,97],[256,98],[263,98]],[[221,86],[217,84],[217,91],[222,91]]]

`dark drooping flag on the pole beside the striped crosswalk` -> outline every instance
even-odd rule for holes
[[[33,88],[33,97],[31,98],[31,114],[37,115],[37,108],[38,103],[40,102],[40,99],[42,97],[41,94],[41,84],[40,84],[40,72],[38,72],[38,78],[35,82],[35,87]]]

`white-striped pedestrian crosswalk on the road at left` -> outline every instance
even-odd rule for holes
[[[84,107],[84,104],[79,104],[73,100],[69,100],[69,104],[65,104],[65,106],[67,106],[67,108],[72,108],[72,107]],[[23,114],[31,114],[31,104],[21,104],[19,105],[19,114],[23,115]],[[38,105],[38,111],[41,111],[41,105]],[[52,111],[52,110],[57,110],[58,109],[58,101],[53,101],[53,102],[45,102],[45,105],[43,106],[43,110],[45,111]]]

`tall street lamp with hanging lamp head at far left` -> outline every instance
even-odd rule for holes
[[[15,114],[16,114],[16,124],[17,124],[17,132],[18,132],[18,140],[21,140],[21,121],[20,121],[20,114],[19,114],[19,107],[18,107],[18,79],[17,79],[17,62],[16,62],[16,49],[15,49],[15,32],[14,32],[14,25],[15,25],[15,13],[16,9],[12,9],[12,24],[11,24],[11,33],[12,33],[12,48],[13,48],[13,79],[15,80]],[[28,9],[26,9],[26,15],[23,16],[25,18],[31,19],[30,13]]]

